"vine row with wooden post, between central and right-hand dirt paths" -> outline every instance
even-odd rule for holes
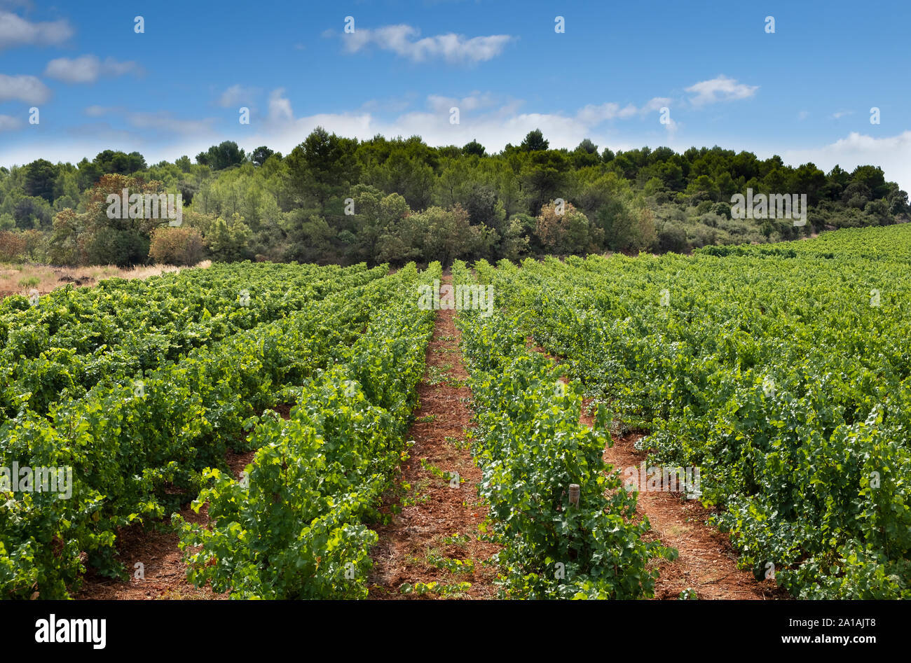
[[[482,282],[485,267],[476,264]],[[461,262],[453,275],[469,280]],[[496,561],[507,594],[649,597],[650,558],[676,551],[642,540],[649,525],[636,517],[635,495],[606,472],[604,411],[593,429],[579,424],[578,384],[563,385],[548,359],[526,350],[516,321],[464,311],[457,324],[477,413],[479,490],[503,546]],[[578,507],[570,484],[580,486]]]

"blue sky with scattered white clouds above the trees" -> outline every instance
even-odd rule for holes
[[[541,128],[552,147],[874,163],[911,190],[909,18],[898,1],[0,0],[0,164],[287,153],[317,125],[496,151]]]

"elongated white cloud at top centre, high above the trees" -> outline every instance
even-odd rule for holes
[[[333,34],[333,33],[328,33]],[[373,44],[413,62],[425,62],[443,58],[447,62],[484,62],[500,55],[507,44],[515,39],[509,35],[475,36],[447,33],[445,35],[417,38],[421,31],[413,26],[383,26],[357,28],[353,33],[343,34],[344,48],[348,53],[357,53]]]

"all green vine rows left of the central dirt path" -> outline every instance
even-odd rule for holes
[[[160,519],[200,490],[226,529],[188,527],[189,540],[205,538],[199,556],[232,546],[238,564],[200,573],[216,574],[214,585],[220,571],[234,582],[243,574],[238,596],[318,592],[307,545],[313,556],[328,547],[345,563],[363,560],[370,535],[360,519],[398,458],[423,372],[428,313],[411,293],[439,272],[247,263],[108,280],[34,305],[6,299],[0,466],[71,468],[73,481],[67,499],[8,494],[4,596],[67,597],[87,566],[123,574],[118,528]],[[339,394],[344,405],[332,408]],[[282,426],[271,407],[291,399],[298,407]],[[252,511],[234,513],[220,469],[229,447],[254,444],[270,446],[245,482]],[[276,505],[273,495],[287,499]],[[265,542],[250,542],[229,514],[269,530],[270,577],[247,568]],[[296,541],[302,525],[309,543]],[[336,570],[323,565],[317,577]]]

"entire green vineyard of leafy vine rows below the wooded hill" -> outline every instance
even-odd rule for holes
[[[438,262],[215,264],[7,298],[0,467],[71,482],[66,498],[0,484],[0,597],[71,597],[89,570],[128,582],[121,533],[165,520],[189,583],[231,598],[457,596],[482,564],[502,597],[653,597],[687,551],[605,462],[633,435],[650,464],[698,468],[709,525],[756,583],[909,598],[909,267],[911,228],[894,226],[689,256],[455,260],[445,277]],[[441,279],[492,286],[493,310],[422,305]],[[458,475],[413,439],[419,389],[455,381],[429,365],[443,321],[472,420],[440,457],[464,443],[479,471],[448,487]],[[251,454],[240,474],[232,452]],[[403,473],[460,487],[445,508],[480,512],[481,531],[450,531],[442,498],[403,511]],[[179,515],[190,504],[204,522]],[[496,552],[421,566],[383,545],[418,517],[453,551]]]

